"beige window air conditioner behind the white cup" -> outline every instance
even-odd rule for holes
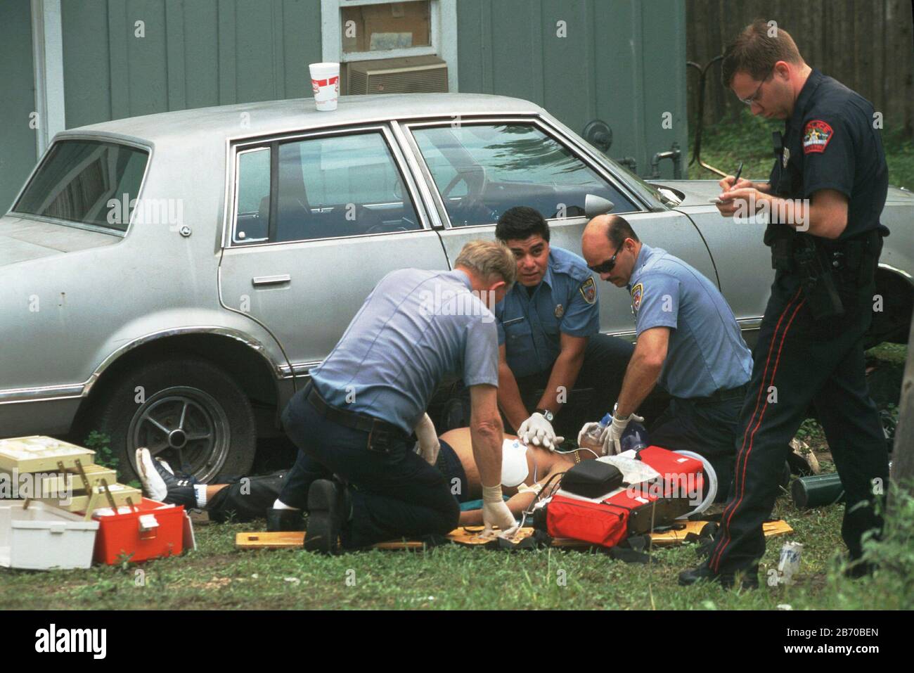
[[[447,93],[448,64],[437,56],[352,61],[346,92]]]

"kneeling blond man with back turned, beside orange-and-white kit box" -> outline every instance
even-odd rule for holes
[[[460,508],[433,467],[435,432],[425,414],[445,376],[462,376],[470,389],[484,525],[515,528],[500,484],[497,336],[483,301],[494,306],[514,281],[511,252],[480,240],[463,247],[453,271],[402,269],[377,283],[282,414],[299,454],[273,507],[308,510],[306,550],[332,553],[337,539],[358,549],[457,526]],[[409,441],[417,426],[423,455]]]

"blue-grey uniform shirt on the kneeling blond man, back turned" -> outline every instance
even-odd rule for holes
[[[497,386],[495,317],[470,290],[462,271],[388,273],[311,370],[314,387],[337,409],[412,433],[444,377]]]

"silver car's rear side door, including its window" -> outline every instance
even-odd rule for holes
[[[232,146],[220,301],[260,321],[297,379],[319,364],[377,282],[446,269],[386,124]]]

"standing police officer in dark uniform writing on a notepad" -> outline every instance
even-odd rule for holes
[[[734,185],[728,176],[717,206],[725,217],[770,213],[765,243],[777,272],[753,352],[736,475],[717,545],[709,561],[679,579],[729,585],[741,572],[743,585],[753,586],[765,551],[761,525],[810,402],[845,486],[841,532],[852,561],[861,555],[864,531],[882,526],[873,499],[887,484],[888,457],[866,392],[863,339],[888,233],[879,224],[888,175],[873,106],[806,65],[785,30],[761,20],[746,27],[722,68],[725,85],[753,114],[786,120],[770,182]]]

